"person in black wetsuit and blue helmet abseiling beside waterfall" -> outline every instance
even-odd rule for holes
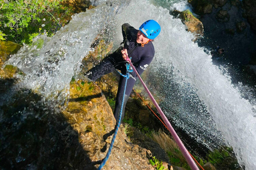
[[[161,31],[160,25],[154,20],[148,20],[141,24],[139,30],[133,28],[130,24],[122,25],[122,34],[124,47],[119,47],[114,53],[95,65],[92,69],[85,73],[85,76],[92,81],[102,77],[102,75],[113,72],[115,69],[120,70],[122,74],[126,74],[126,59],[131,58],[131,62],[135,69],[141,74],[154,58],[155,49],[152,41],[159,35]],[[118,120],[121,112],[122,100],[125,88],[126,78],[120,77],[116,96],[116,105],[114,110],[115,119]],[[132,88],[137,79],[137,74],[130,72],[130,78],[127,80],[125,97],[122,110],[122,119],[124,117],[124,108],[131,94]]]

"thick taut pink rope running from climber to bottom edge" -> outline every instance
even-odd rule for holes
[[[137,70],[135,69],[135,67],[133,66],[131,60],[129,59],[129,57],[126,55],[126,61],[129,61],[130,65],[132,66],[133,70],[135,71],[135,73],[137,74],[138,78],[140,79],[142,86],[145,88],[145,90],[147,91],[151,101],[153,102],[153,104],[155,105],[158,113],[161,115],[164,123],[166,124],[168,130],[171,132],[173,139],[175,140],[175,142],[177,143],[177,145],[179,146],[182,155],[186,158],[189,166],[191,169],[193,170],[199,170],[199,168],[197,167],[197,165],[195,164],[194,160],[191,158],[191,156],[189,155],[188,150],[186,149],[186,147],[183,145],[182,141],[180,140],[178,134],[175,132],[175,130],[172,128],[171,123],[169,122],[169,120],[167,119],[167,117],[164,115],[162,109],[159,107],[159,105],[157,104],[156,100],[154,99],[154,97],[151,95],[150,91],[148,90],[146,84],[143,82],[143,80],[141,79],[139,73],[137,72]]]

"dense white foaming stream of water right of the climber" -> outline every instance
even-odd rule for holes
[[[142,13],[147,15],[141,15]],[[152,66],[158,70],[165,69],[166,78],[172,74],[170,67],[174,67],[173,74],[179,78],[175,81],[181,85],[190,84],[189,86],[195,89],[196,95],[207,107],[218,130],[222,132],[226,142],[233,147],[238,163],[244,165],[246,169],[255,169],[256,118],[253,116],[253,106],[241,97],[239,90],[231,83],[229,75],[223,74],[220,67],[212,64],[211,56],[191,41],[194,36],[186,32],[181,21],[173,19],[169,13],[168,10],[145,1],[136,3],[132,1],[125,13],[118,16],[117,23],[121,25],[128,22],[138,28],[140,23],[147,19],[155,19],[159,22],[162,32],[154,41],[156,55]],[[166,86],[166,82],[157,86]],[[166,93],[168,94],[167,91]],[[168,106],[168,103],[165,106]],[[182,105],[179,107],[180,110],[183,109]],[[171,107],[165,108],[168,109],[172,110]],[[189,112],[184,114],[191,118]],[[201,127],[207,129],[207,122],[206,124],[201,122]],[[193,121],[190,123],[193,124]],[[181,126],[187,128],[186,123],[182,123]],[[214,125],[212,128],[214,129]],[[209,132],[220,135],[218,130],[213,129]],[[217,139],[221,141],[221,138]]]

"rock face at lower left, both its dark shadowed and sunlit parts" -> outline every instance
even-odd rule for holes
[[[67,109],[61,113],[40,104],[41,97],[29,90],[17,92],[9,106],[1,107],[1,168],[97,168],[116,121],[95,83],[79,80],[70,87]],[[132,144],[122,129],[103,169],[154,169],[147,158],[150,151]]]

